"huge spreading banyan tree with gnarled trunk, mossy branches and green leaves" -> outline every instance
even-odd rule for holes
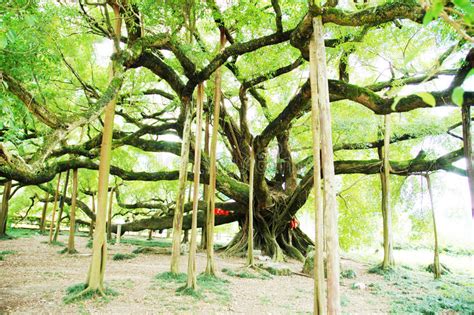
[[[180,178],[179,161],[185,163],[182,179],[192,181],[189,164],[202,150],[198,175],[209,184],[211,158],[204,142],[209,148],[209,130],[217,130],[215,208],[223,211],[214,211],[215,225],[238,222],[240,227],[227,252],[246,251],[254,154],[254,246],[275,259],[303,259],[313,241],[295,217],[311,196],[315,174],[309,43],[313,18],[321,17],[338,189],[349,185],[348,174],[389,180],[445,171],[467,176],[472,195],[474,92],[466,83],[474,65],[472,12],[462,1],[445,2],[1,4],[8,10],[0,8],[5,12],[0,18],[0,181],[5,187],[13,182],[13,189],[38,186],[50,201],[58,175],[68,170],[78,171],[79,178],[87,173],[95,185],[103,130],[112,128],[102,115],[108,108],[113,111],[108,116],[111,177],[102,185],[114,187],[119,215],[133,214],[122,233],[170,229],[181,208],[176,209],[178,186],[169,185]],[[222,72],[220,89],[216,71]],[[200,84],[203,110],[196,113]],[[196,143],[193,120],[201,114],[207,122],[203,133],[208,131]],[[391,131],[383,123],[389,114]],[[420,151],[420,143],[433,138],[442,139],[443,150]],[[465,157],[463,168],[457,162]],[[140,200],[127,191],[134,182],[153,199]],[[168,185],[166,196],[157,188],[161,184]],[[183,195],[186,185],[182,188]],[[99,213],[107,203],[100,189],[106,194],[107,187],[99,187]],[[78,221],[95,220],[93,195],[79,190]],[[197,226],[205,229],[214,209],[207,209],[204,194],[198,196]],[[192,200],[183,195],[183,202],[187,230]],[[116,228],[112,225],[113,232]]]

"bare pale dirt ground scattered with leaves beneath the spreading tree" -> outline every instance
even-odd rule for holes
[[[115,253],[130,253],[129,244],[110,245],[106,266],[106,283],[118,292],[108,302],[102,299],[65,304],[62,299],[67,287],[85,280],[91,249],[88,238],[77,237],[77,255],[59,254],[62,247],[45,244],[46,236],[32,236],[0,241],[0,251],[14,254],[0,261],[0,313],[159,313],[159,314],[298,314],[312,313],[313,280],[300,275],[274,276],[272,279],[244,279],[220,272],[222,268],[243,266],[244,260],[218,255],[219,277],[228,280],[227,294],[205,294],[204,298],[178,296],[179,284],[161,283],[154,277],[169,270],[168,255],[138,255],[131,260],[114,261]],[[67,242],[61,235],[60,241]],[[205,253],[198,253],[197,270],[205,269]],[[286,263],[299,272],[300,262]],[[181,271],[186,271],[187,257],[181,258]],[[391,301],[374,294],[369,284],[383,281],[369,274],[367,264],[342,260],[343,269],[356,272],[356,279],[342,279],[344,313],[388,313]],[[365,288],[354,289],[354,283]]]

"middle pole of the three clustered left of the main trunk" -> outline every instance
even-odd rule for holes
[[[196,236],[197,236],[197,213],[199,208],[199,180],[201,177],[201,138],[202,138],[202,104],[204,100],[204,85],[200,83],[197,87],[196,102],[196,143],[194,145],[194,188],[193,188],[193,213],[191,222],[191,242],[189,244],[188,256],[188,288],[197,288],[196,280]]]

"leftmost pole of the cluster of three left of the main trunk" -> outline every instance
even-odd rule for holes
[[[181,231],[183,227],[184,198],[186,195],[186,179],[188,176],[189,146],[191,141],[191,104],[189,99],[183,100],[184,126],[181,142],[181,163],[179,166],[178,194],[173,217],[173,245],[171,249],[171,272],[179,273],[179,257],[181,255]]]

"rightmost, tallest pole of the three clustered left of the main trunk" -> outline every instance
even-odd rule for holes
[[[224,50],[226,43],[225,31],[223,28],[220,29],[220,41],[219,50]],[[207,264],[206,274],[215,275],[216,267],[214,262],[214,224],[215,215],[214,208],[216,204],[216,160],[217,160],[217,131],[219,130],[219,114],[220,114],[220,103],[221,103],[221,82],[222,82],[222,71],[221,68],[217,68],[215,73],[215,84],[214,84],[214,114],[213,114],[213,125],[212,125],[212,136],[211,136],[211,150],[209,152],[210,167],[209,167],[209,204],[207,206]]]

